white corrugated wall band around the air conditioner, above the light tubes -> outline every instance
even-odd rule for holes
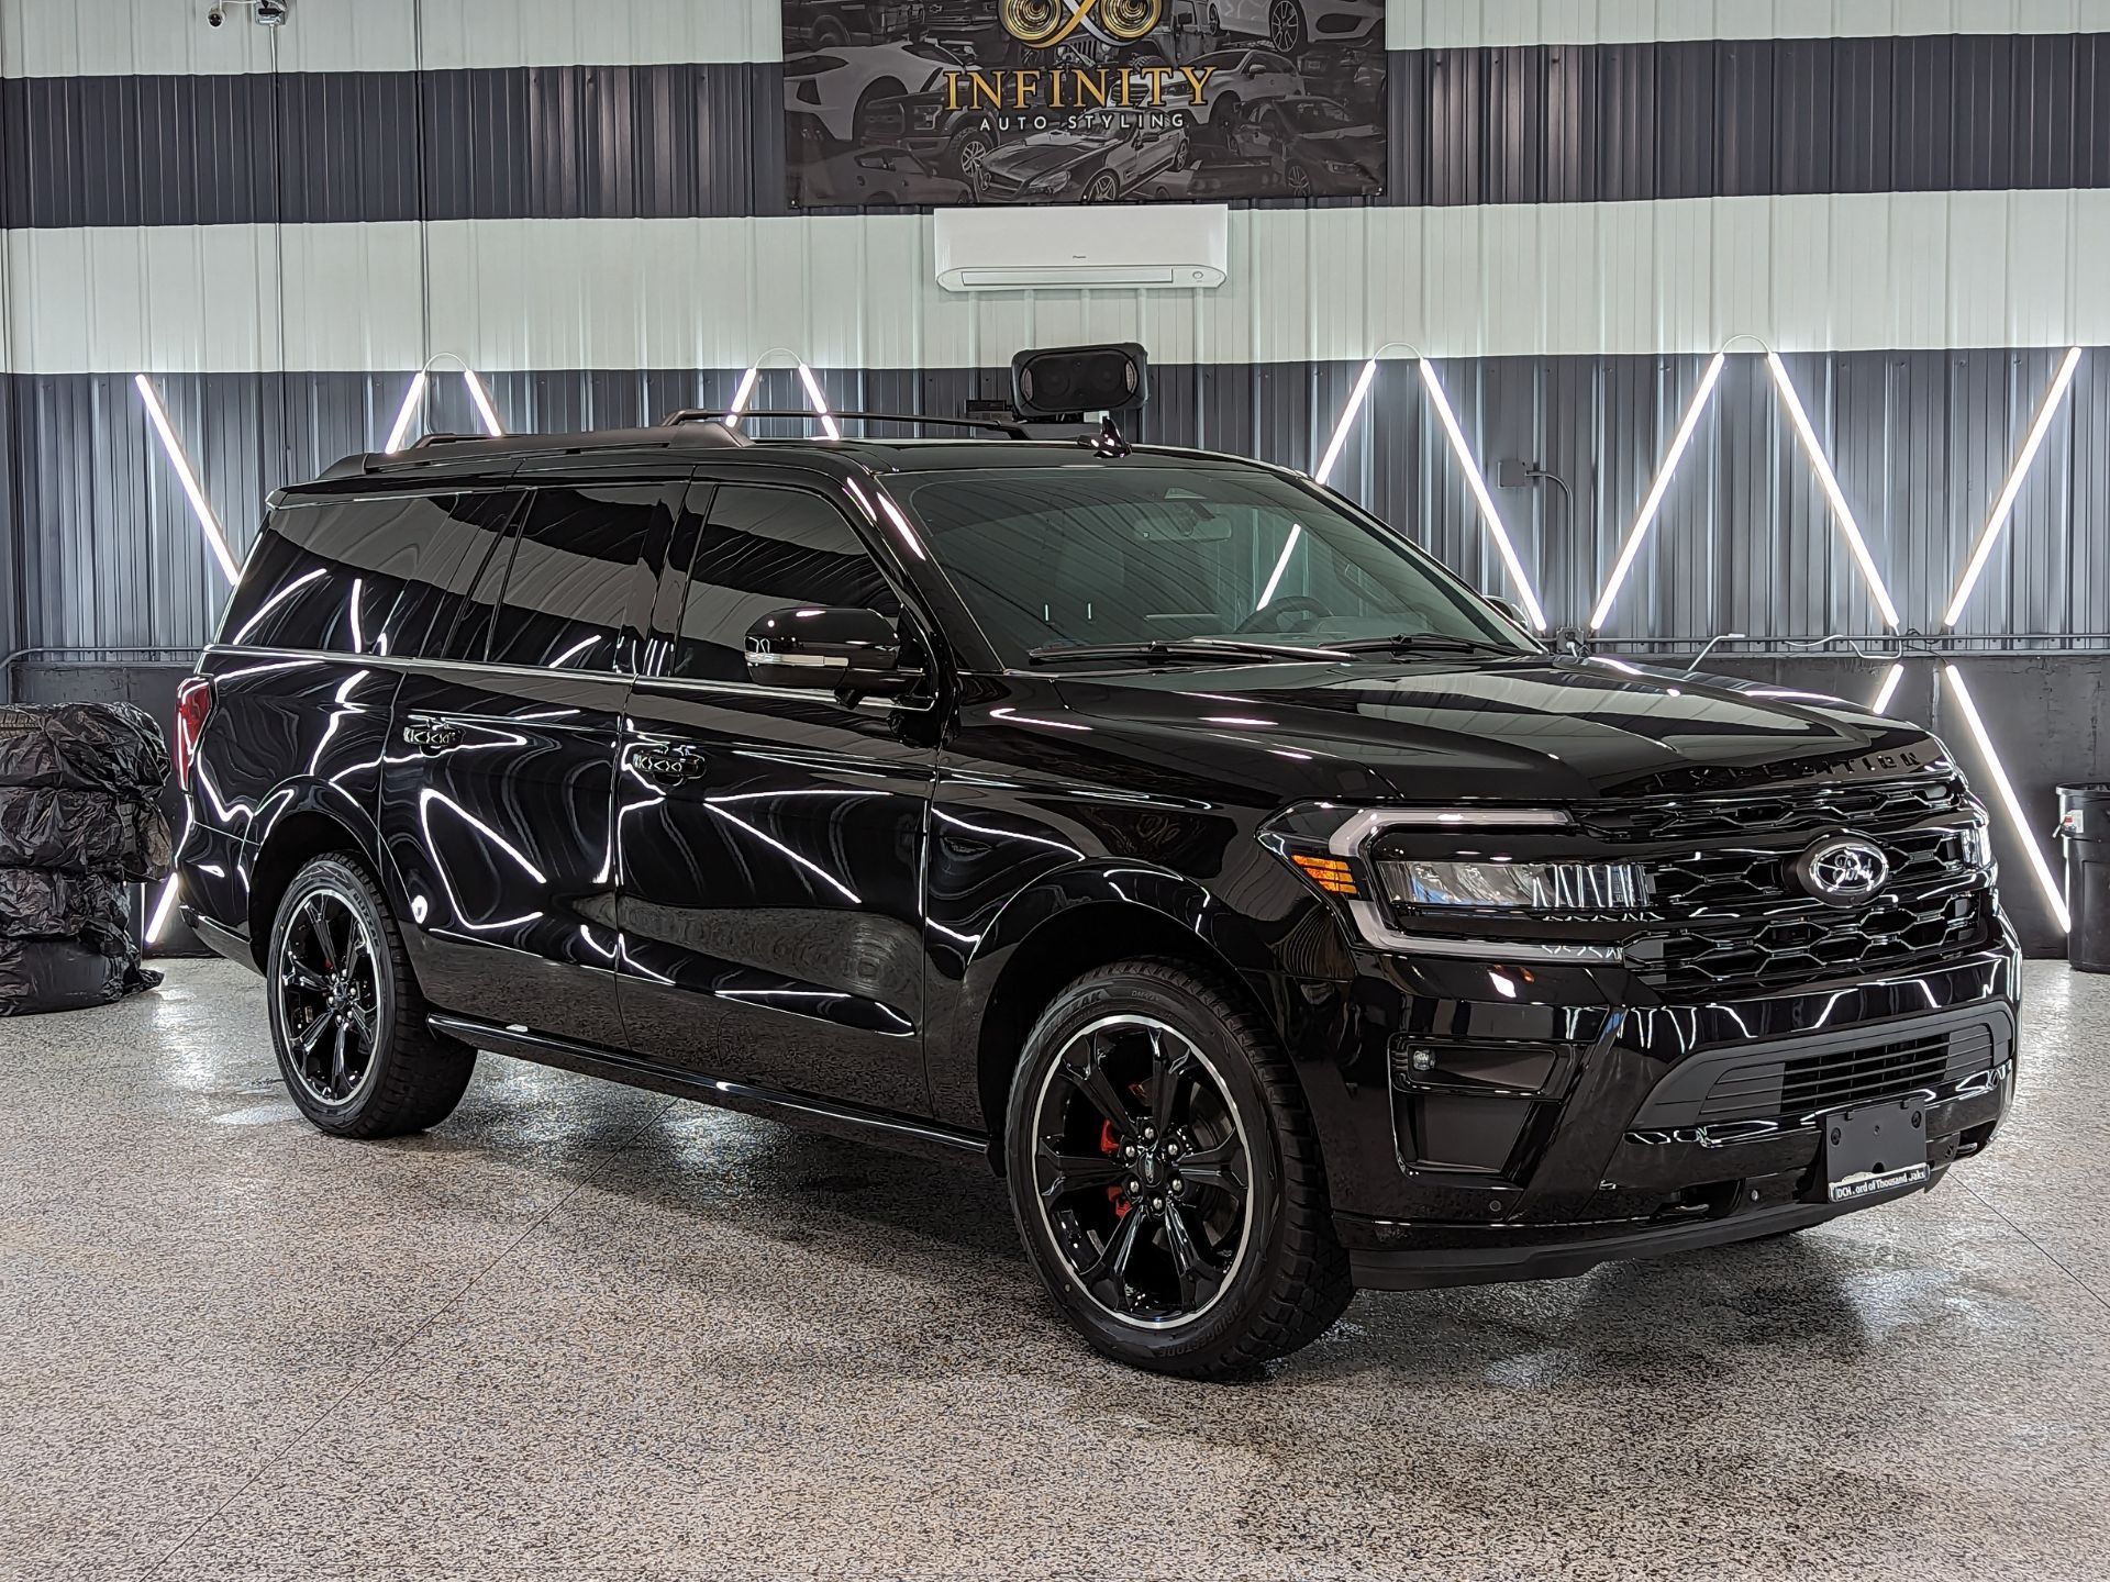
[[[2106,238],[2110,192],[1270,209],[1232,215],[1220,291],[952,295],[922,215],[19,230],[8,342],[21,373],[2099,346]]]

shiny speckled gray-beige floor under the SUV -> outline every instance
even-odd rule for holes
[[[0,1576],[2110,1576],[2110,979],[1931,1198],[1097,1361],[994,1179],[483,1057],[329,1141],[257,979],[0,1021]]]

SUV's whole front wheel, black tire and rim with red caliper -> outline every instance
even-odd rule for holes
[[[1355,1295],[1289,1061],[1184,964],[1116,962],[1055,996],[1011,1082],[1004,1175],[1049,1295],[1118,1363],[1239,1377]]]

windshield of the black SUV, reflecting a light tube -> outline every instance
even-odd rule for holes
[[[1538,652],[1420,551],[1260,468],[922,472],[890,485],[1006,664],[1051,645],[1437,635]]]

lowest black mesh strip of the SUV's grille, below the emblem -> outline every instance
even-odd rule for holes
[[[1635,949],[1642,977],[1665,989],[1772,987],[1827,977],[1888,972],[1986,945],[1992,918],[1983,892],[1891,896],[1861,911],[1802,911],[1728,928],[1682,928]],[[1648,960],[1648,945],[1661,947]]]

